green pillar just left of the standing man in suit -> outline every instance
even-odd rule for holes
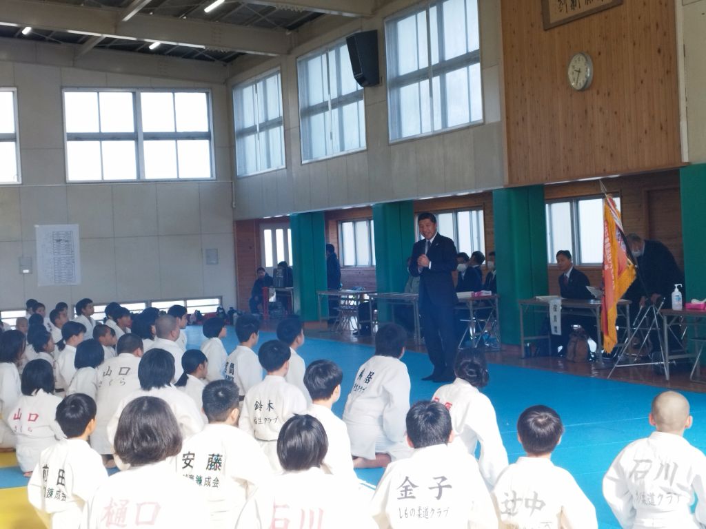
[[[407,282],[407,257],[412,255],[414,244],[412,200],[373,205],[373,229],[377,290],[402,292]],[[378,319],[390,320],[389,311],[378,306]]]

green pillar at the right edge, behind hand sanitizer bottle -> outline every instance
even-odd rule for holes
[[[686,299],[703,299],[706,298],[706,237],[703,233],[706,164],[683,167],[680,171],[680,188]]]

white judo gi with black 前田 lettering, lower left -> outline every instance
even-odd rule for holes
[[[83,506],[108,479],[100,455],[83,439],[62,439],[42,451],[27,487],[30,504],[52,529],[77,528]],[[43,515],[43,516],[42,516]]]

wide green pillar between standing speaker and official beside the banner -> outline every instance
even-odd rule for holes
[[[503,343],[520,345],[517,300],[542,296],[548,286],[544,188],[493,191],[493,223]],[[537,325],[539,317],[525,324]]]

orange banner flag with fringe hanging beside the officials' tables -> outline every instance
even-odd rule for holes
[[[616,317],[618,300],[635,281],[635,265],[630,262],[626,250],[623,223],[613,198],[605,195],[603,200],[603,299],[602,327],[603,348],[613,351],[618,343]]]

